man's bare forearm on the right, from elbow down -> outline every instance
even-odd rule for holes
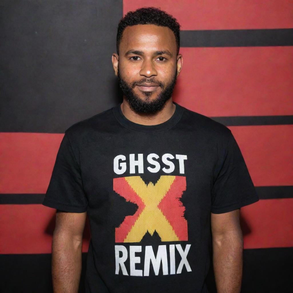
[[[217,293],[239,293],[243,267],[242,233],[231,232],[213,240],[213,265]]]

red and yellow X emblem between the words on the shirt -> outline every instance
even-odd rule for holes
[[[134,215],[126,216],[115,228],[115,242],[140,242],[155,231],[161,241],[188,240],[185,207],[180,201],[186,190],[185,176],[163,175],[148,185],[140,176],[114,178],[113,190],[138,206]]]

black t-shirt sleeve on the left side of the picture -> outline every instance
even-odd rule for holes
[[[66,132],[42,204],[66,212],[81,213],[87,210],[88,201],[83,189],[81,170]]]

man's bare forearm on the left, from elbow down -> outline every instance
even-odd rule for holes
[[[78,292],[82,242],[54,233],[52,242],[52,282],[54,293]]]

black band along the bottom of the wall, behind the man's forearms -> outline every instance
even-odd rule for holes
[[[80,293],[84,292],[86,257],[87,253],[83,253]],[[292,292],[292,257],[292,247],[244,249],[241,293]],[[0,263],[3,292],[52,292],[51,254],[2,254]],[[207,277],[210,293],[216,292],[214,284],[210,265]]]

